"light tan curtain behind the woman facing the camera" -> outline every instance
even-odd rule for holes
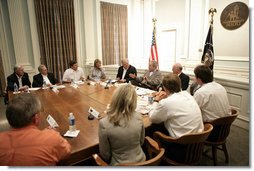
[[[127,6],[101,2],[101,30],[103,65],[120,65],[128,57]]]

